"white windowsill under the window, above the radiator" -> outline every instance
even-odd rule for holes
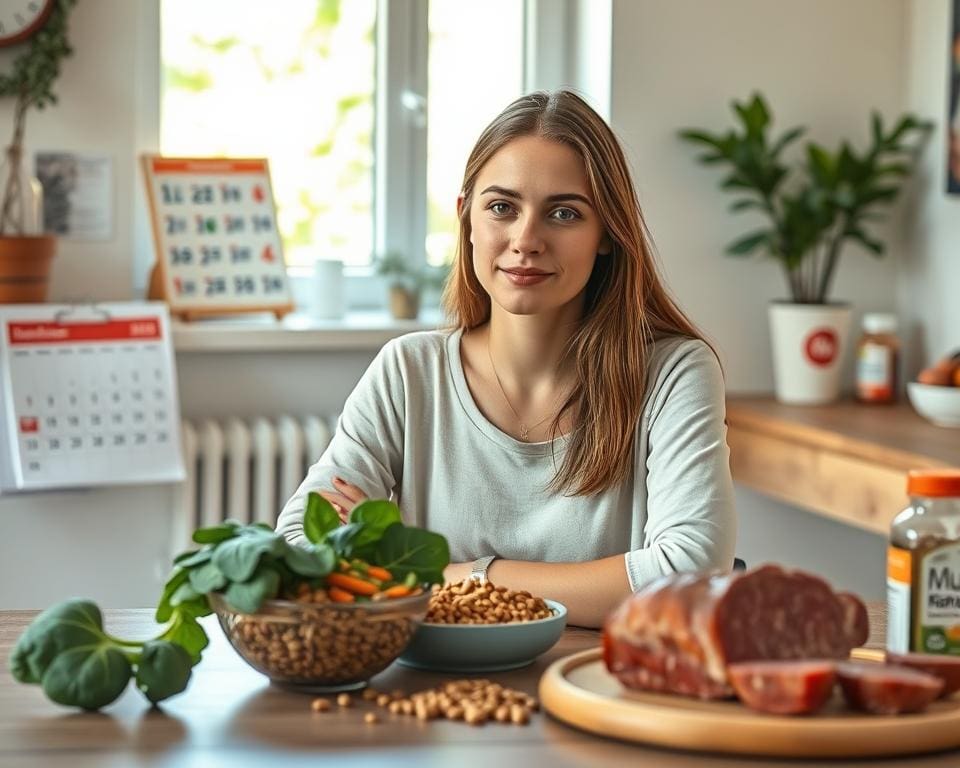
[[[378,350],[390,339],[442,324],[436,308],[416,320],[395,320],[384,311],[348,312],[338,320],[293,313],[282,320],[270,315],[173,320],[173,347],[189,352],[313,352]]]

